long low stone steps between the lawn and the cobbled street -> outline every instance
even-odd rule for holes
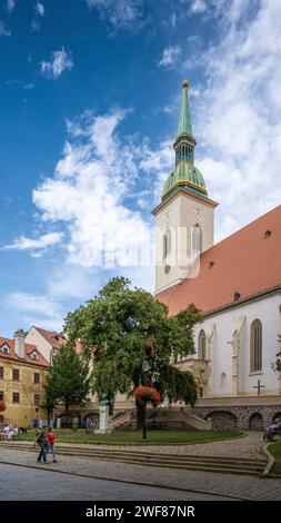
[[[86,457],[90,460],[106,460],[133,465],[159,466],[191,471],[218,472],[220,474],[261,475],[267,466],[267,458],[239,458],[203,455],[169,455],[145,451],[130,451],[124,448],[99,448],[98,446],[82,447],[59,444],[58,453],[66,456]],[[0,462],[4,461],[4,448],[14,451],[38,452],[30,443],[0,443]]]

